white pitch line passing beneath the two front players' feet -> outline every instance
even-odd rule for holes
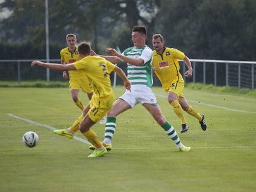
[[[28,118],[22,118],[20,116],[13,115],[11,113],[8,113],[7,115],[12,116],[12,117],[17,118],[17,119],[20,119],[20,120],[23,120],[25,122],[29,122],[30,124],[40,125],[42,127],[46,127],[48,129],[51,129],[51,130],[57,130],[56,128],[54,128],[50,125],[44,125],[44,124],[40,124],[40,123],[37,123],[37,122],[33,122],[33,121],[29,120]],[[89,141],[78,138],[77,136],[74,136],[74,139],[78,140],[78,141],[81,141],[83,143],[86,143],[88,145],[92,145]],[[169,147],[164,147],[164,148],[169,148]],[[161,147],[161,149],[164,149],[164,148]],[[170,147],[170,148],[173,148],[173,147]],[[193,148],[223,148],[223,147],[191,147],[191,148],[193,149]],[[232,146],[230,146],[230,147],[225,146],[225,148],[256,148],[256,146],[233,146],[233,147]],[[124,150],[124,149],[126,149],[126,150],[147,150],[147,149],[149,149],[149,150],[151,150],[151,149],[159,149],[159,148],[143,148],[143,147],[131,148],[130,147],[130,148],[115,148],[115,149],[116,150]]]

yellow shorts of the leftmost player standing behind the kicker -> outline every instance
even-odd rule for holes
[[[82,90],[84,93],[92,93],[92,85],[87,78],[84,79],[70,79],[69,90]]]

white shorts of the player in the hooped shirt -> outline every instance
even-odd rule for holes
[[[124,95],[118,99],[125,100],[131,108],[134,108],[136,104],[152,104],[157,105],[156,95],[152,92],[151,88],[141,84],[134,84],[131,86],[131,92],[126,90]]]

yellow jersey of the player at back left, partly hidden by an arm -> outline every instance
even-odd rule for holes
[[[74,53],[70,52],[68,47],[62,49],[60,51],[60,58],[61,60],[65,61],[66,64],[74,63],[76,61],[81,60],[79,56],[79,52],[77,51],[77,47]],[[68,71],[69,79],[84,79],[86,78],[84,72],[80,72],[77,70],[70,70]]]

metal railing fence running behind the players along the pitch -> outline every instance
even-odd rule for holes
[[[62,72],[46,70],[45,68],[31,68],[33,60],[0,60],[0,81],[65,81]],[[45,60],[40,60],[45,61]],[[49,60],[60,63],[60,60]],[[214,86],[236,86],[237,88],[255,89],[256,61],[225,61],[225,60],[191,60],[193,77],[185,78],[186,83],[214,84]],[[125,64],[118,67],[127,72]],[[180,61],[180,72],[186,72],[186,65]],[[111,74],[113,85],[122,84],[122,79]],[[161,83],[154,76],[154,85]]]

